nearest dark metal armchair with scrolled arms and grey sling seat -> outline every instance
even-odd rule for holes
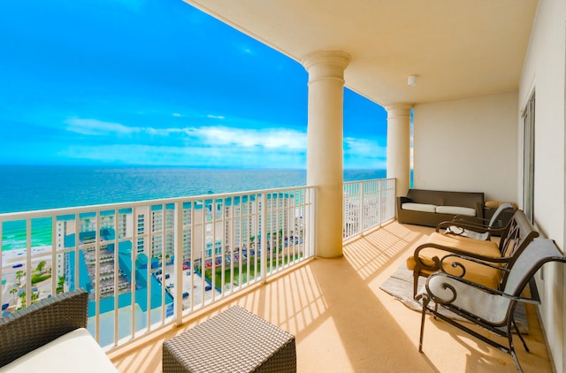
[[[449,256],[463,257],[462,255]],[[466,261],[474,261],[474,259],[470,257],[463,258],[465,258]],[[519,333],[515,323],[514,311],[516,304],[519,301],[540,303],[539,293],[533,278],[535,273],[544,263],[566,263],[566,257],[558,250],[553,240],[535,239],[516,258],[516,262],[513,263],[511,267],[501,268],[490,263],[477,262],[509,272],[503,290],[493,290],[486,286],[467,281],[464,278],[447,274],[444,271],[432,274],[427,278],[422,292],[417,295],[417,300],[422,299],[423,301],[418,351],[423,352],[424,321],[426,312],[428,311],[431,312],[435,318],[439,317],[448,324],[455,325],[462,331],[466,331],[489,345],[510,354],[513,357],[516,369],[522,372],[523,370],[521,369],[521,365],[516,356],[515,346],[513,345],[513,329],[517,332],[527,352],[529,348],[526,346],[523,336]],[[465,271],[461,263],[457,264],[457,266]],[[531,296],[524,298],[523,291],[527,284],[530,284]],[[469,327],[457,320],[440,314],[438,312],[439,307],[446,308],[456,315],[462,316],[472,324],[478,324],[488,331],[492,331],[494,334],[507,338],[509,346],[503,346],[477,331],[472,331]]]

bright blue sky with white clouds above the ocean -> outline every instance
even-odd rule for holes
[[[0,163],[306,167],[308,74],[181,0],[0,2]],[[344,167],[386,168],[345,90]]]

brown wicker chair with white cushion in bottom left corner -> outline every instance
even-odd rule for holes
[[[88,293],[77,289],[0,318],[0,370],[117,372],[84,329],[87,315]]]

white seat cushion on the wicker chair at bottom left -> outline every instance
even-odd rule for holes
[[[90,333],[81,328],[4,365],[0,372],[118,373],[118,369]]]

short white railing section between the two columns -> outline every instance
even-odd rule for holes
[[[376,228],[395,217],[395,179],[344,183],[343,240]]]

